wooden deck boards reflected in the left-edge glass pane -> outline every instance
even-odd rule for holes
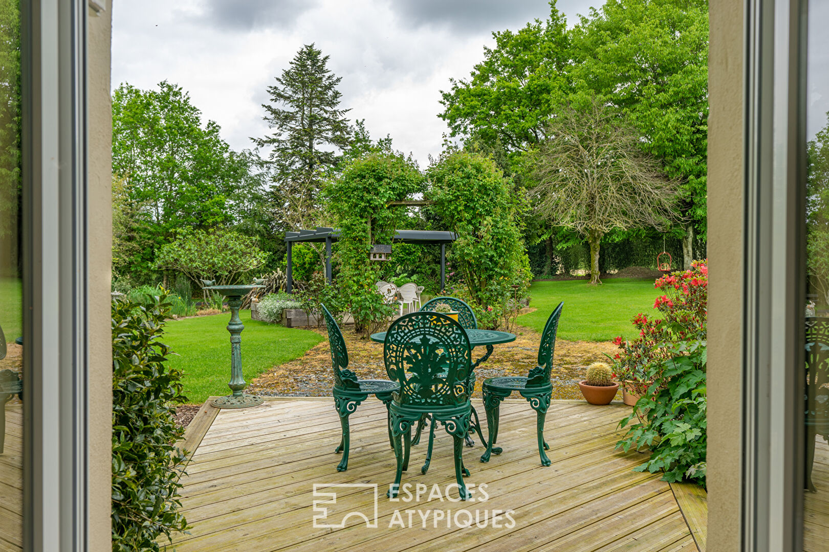
[[[0,403],[0,408],[2,408]],[[23,550],[23,419],[21,404],[6,405],[6,443],[0,454],[0,552]],[[0,431],[3,428],[0,426]]]

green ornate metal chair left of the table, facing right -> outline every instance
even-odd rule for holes
[[[337,464],[337,471],[344,472],[348,469],[348,416],[369,395],[374,395],[383,401],[386,413],[388,414],[391,394],[400,390],[400,386],[388,380],[361,380],[356,377],[356,374],[348,369],[346,342],[342,338],[342,332],[337,325],[337,321],[334,320],[334,317],[328,312],[325,305],[322,305],[322,314],[325,315],[325,324],[328,329],[328,343],[331,344],[331,364],[334,369],[334,388],[332,389],[334,408],[337,409],[337,414],[340,416],[340,425],[342,425],[342,439],[340,439],[340,445],[334,453],[342,452],[342,459]],[[394,446],[391,439],[391,431],[389,431],[389,444]]]

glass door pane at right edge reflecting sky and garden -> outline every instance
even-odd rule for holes
[[[829,542],[829,2],[808,2],[805,550]]]

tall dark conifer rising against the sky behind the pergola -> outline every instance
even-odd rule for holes
[[[329,56],[313,44],[303,46],[290,67],[268,87],[270,103],[263,103],[264,120],[274,133],[253,138],[269,148],[274,187],[274,218],[279,228],[295,230],[318,224],[319,191],[340,152],[351,142],[350,109],[340,109],[337,85],[342,77],[327,68]]]

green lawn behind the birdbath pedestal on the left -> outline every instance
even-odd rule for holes
[[[322,341],[319,334],[306,329],[284,328],[250,319],[250,310],[240,312],[245,324],[242,332],[242,372],[245,382],[270,367],[299,358]],[[169,320],[164,343],[177,355],[170,366],[184,371],[187,402],[198,404],[211,395],[228,395],[230,389],[230,334],[225,326],[230,314]]]

